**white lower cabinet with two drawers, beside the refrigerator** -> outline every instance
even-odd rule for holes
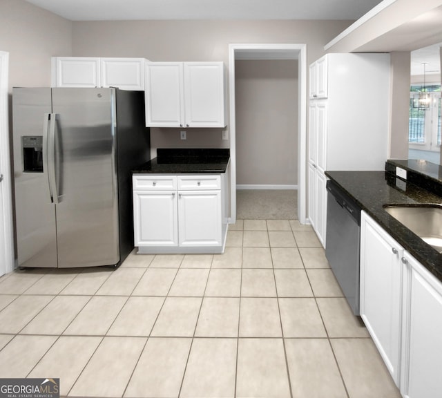
[[[140,253],[220,253],[224,176],[133,176],[134,245]]]

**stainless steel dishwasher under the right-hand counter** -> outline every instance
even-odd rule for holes
[[[359,315],[361,208],[337,184],[327,181],[325,256],[345,298]]]

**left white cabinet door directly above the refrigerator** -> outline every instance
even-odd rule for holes
[[[52,58],[52,87],[99,87],[99,58]]]

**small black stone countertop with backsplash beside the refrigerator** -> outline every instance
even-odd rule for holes
[[[133,169],[134,174],[225,173],[229,149],[157,149],[157,157]]]

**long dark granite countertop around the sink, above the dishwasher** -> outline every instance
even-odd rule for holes
[[[388,164],[386,168],[389,169]],[[326,175],[407,252],[442,281],[442,254],[383,209],[384,205],[442,205],[441,196],[412,182],[396,178],[390,171],[326,171]],[[410,173],[407,177],[410,177]]]

